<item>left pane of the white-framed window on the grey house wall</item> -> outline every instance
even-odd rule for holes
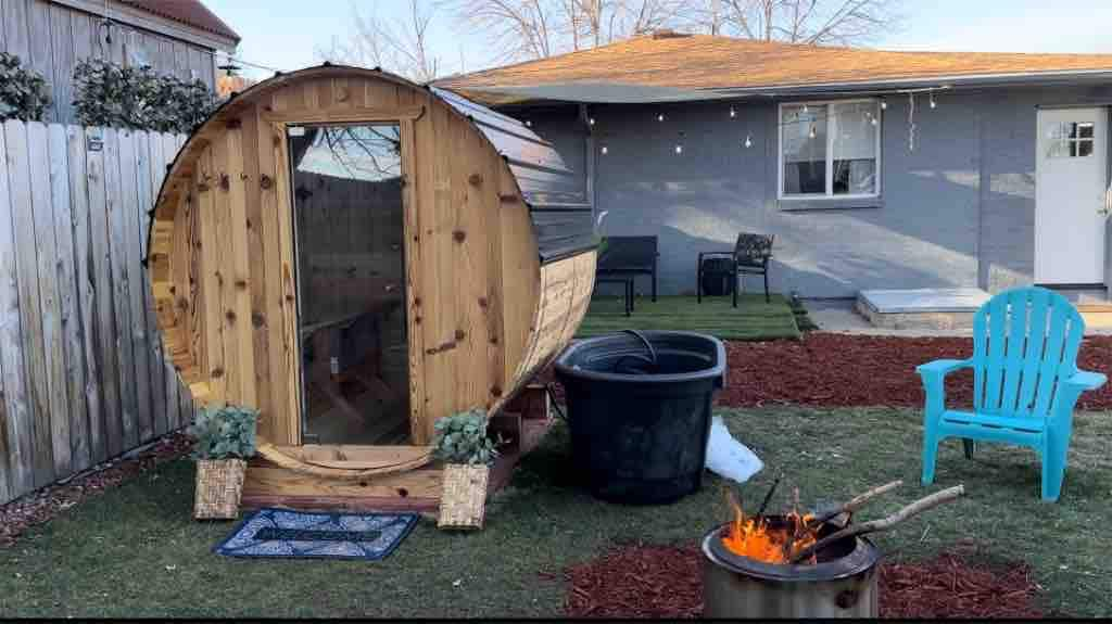
[[[784,107],[784,194],[826,194],[826,107]]]

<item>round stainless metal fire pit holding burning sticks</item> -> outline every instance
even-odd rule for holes
[[[782,516],[768,516],[776,526]],[[703,617],[876,617],[880,551],[847,537],[817,553],[816,564],[770,564],[735,555],[722,543],[729,523],[703,536]],[[823,537],[841,526],[826,523]]]

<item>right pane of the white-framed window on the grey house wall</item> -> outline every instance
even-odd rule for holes
[[[875,102],[831,104],[833,193],[868,195],[876,192],[876,133],[880,111]]]

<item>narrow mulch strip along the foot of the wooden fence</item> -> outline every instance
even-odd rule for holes
[[[186,434],[171,433],[133,456],[117,457],[64,483],[48,485],[0,505],[0,547],[10,546],[29,527],[48,522],[81,501],[180,457],[191,445],[192,441]]]

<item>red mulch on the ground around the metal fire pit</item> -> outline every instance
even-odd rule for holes
[[[569,617],[694,618],[703,611],[697,546],[632,545],[564,571]],[[1042,617],[1023,563],[985,566],[955,553],[882,563],[881,617]]]

